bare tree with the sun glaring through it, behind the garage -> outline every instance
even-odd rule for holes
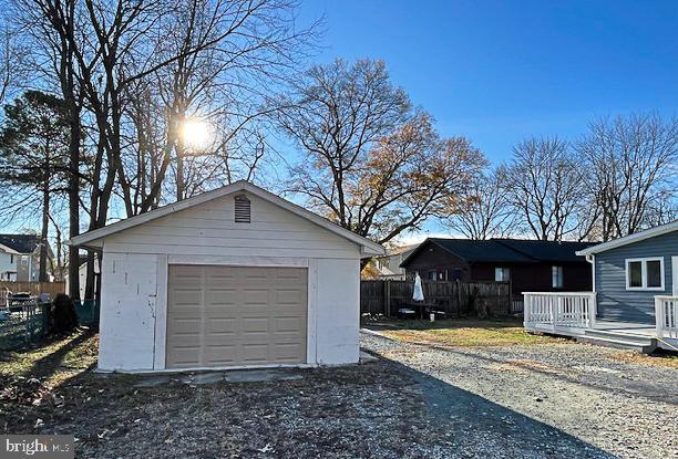
[[[192,0],[166,14],[166,33],[153,38],[153,55],[148,61],[136,59],[135,76],[127,79],[131,102],[141,87],[163,113],[153,129],[165,140],[155,180],[145,179],[147,196],[137,209],[127,206],[133,212],[146,211],[160,200],[163,188],[170,188],[163,187],[167,173],[176,200],[228,182],[245,164],[253,167],[244,177],[251,177],[265,143],[258,123],[271,109],[266,101],[317,36],[318,23],[295,24],[296,8],[296,0]],[[212,142],[191,148],[182,132],[186,122],[209,126]],[[142,127],[138,122],[134,126]],[[121,180],[126,201],[125,189],[138,188],[134,178],[140,176]]]

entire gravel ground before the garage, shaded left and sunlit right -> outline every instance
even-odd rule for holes
[[[678,457],[677,369],[581,344],[361,340],[378,361],[280,372],[82,372],[53,388],[27,378],[22,392],[3,393],[0,426],[72,434],[76,457],[99,459]]]

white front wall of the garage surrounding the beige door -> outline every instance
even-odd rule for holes
[[[165,369],[172,264],[307,269],[308,364],[358,362],[360,244],[247,196],[251,223],[235,222],[229,195],[100,240],[101,369]]]

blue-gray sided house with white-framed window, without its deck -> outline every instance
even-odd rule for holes
[[[678,295],[678,221],[582,250],[598,320],[655,324],[655,296]]]

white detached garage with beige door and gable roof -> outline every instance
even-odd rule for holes
[[[358,362],[360,259],[383,249],[246,181],[90,231],[102,371]]]

